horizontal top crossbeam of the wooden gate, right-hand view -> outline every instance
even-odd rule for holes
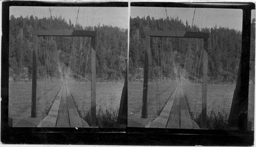
[[[182,37],[182,38],[209,38],[209,33],[188,31],[145,31],[150,37]]]

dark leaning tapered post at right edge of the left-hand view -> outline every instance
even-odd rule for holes
[[[121,101],[120,101],[120,107],[119,107],[119,112],[118,112],[118,117],[117,117],[117,124],[127,124],[127,94],[128,94],[128,89],[127,89],[127,83],[128,83],[128,64],[126,60],[126,71],[125,71],[125,80],[124,80],[124,86],[122,90],[122,95],[121,95]]]

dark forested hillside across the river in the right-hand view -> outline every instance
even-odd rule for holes
[[[149,24],[149,25],[148,25]],[[144,66],[144,51],[145,51],[145,35],[144,31],[148,30],[180,30],[180,31],[195,31],[209,32],[210,38],[208,39],[208,82],[213,84],[232,84],[236,82],[236,77],[239,68],[239,61],[241,56],[242,45],[242,32],[234,29],[214,27],[214,28],[198,28],[193,25],[189,26],[187,21],[184,22],[177,18],[161,18],[155,19],[154,17],[147,16],[139,18],[130,18],[130,53],[129,53],[129,73],[130,80],[137,81],[141,77],[143,78],[143,66]],[[167,27],[166,27],[167,26]],[[251,22],[251,54],[250,54],[250,83],[254,83],[254,58],[255,58],[255,19]],[[153,62],[150,65],[150,71],[156,72],[159,70],[159,58],[156,55],[156,51],[159,50],[159,46],[163,45],[159,41],[159,45],[154,44],[156,37],[151,37],[151,57],[150,61]],[[170,39],[173,50],[173,56],[176,66],[184,66],[186,53],[188,51],[189,40],[185,38],[172,38]],[[163,49],[164,54],[168,51]],[[198,55],[200,56],[200,54]],[[161,63],[160,63],[161,64]],[[201,62],[201,67],[202,67]],[[167,64],[168,66],[168,64]],[[152,68],[152,69],[151,69]],[[153,69],[157,68],[157,69]],[[195,69],[198,70],[198,69]],[[164,72],[164,71],[161,71]],[[198,71],[197,71],[198,72]],[[199,79],[202,75],[202,68],[199,70]],[[154,79],[154,75],[150,76],[150,79]]]

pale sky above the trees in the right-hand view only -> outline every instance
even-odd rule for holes
[[[174,18],[178,16],[179,19],[182,19],[184,24],[187,20],[188,24],[191,26],[195,8],[166,8],[166,11],[167,16]],[[193,24],[196,24],[200,28],[212,28],[217,25],[217,28],[221,26],[242,31],[242,14],[243,11],[241,9],[196,8]],[[165,8],[131,7],[132,18],[137,16],[141,18],[148,15],[155,18],[166,18]],[[253,10],[252,16],[255,18],[255,10]]]

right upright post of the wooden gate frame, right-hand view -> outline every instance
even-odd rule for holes
[[[207,70],[208,70],[208,39],[204,38],[203,46],[203,93],[202,93],[202,113],[201,128],[206,129],[206,111],[207,111]]]

